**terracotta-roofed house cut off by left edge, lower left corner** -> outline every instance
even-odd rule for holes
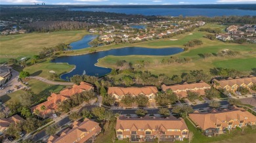
[[[9,118],[0,119],[0,136],[3,135],[5,131],[7,131],[11,123],[17,124],[20,121],[24,121],[24,119],[18,116],[17,114]]]

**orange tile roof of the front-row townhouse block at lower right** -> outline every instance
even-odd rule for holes
[[[228,122],[232,119],[238,119],[238,121],[245,121],[245,123],[256,122],[256,117],[253,116],[253,114],[250,114],[243,108],[237,107],[233,110],[212,110],[210,113],[202,113],[196,110],[194,113],[188,115],[190,119],[192,119],[192,121],[199,125],[203,130],[209,128],[216,128],[216,125],[219,124],[222,124],[223,127],[226,127],[226,123],[223,123],[223,121]],[[233,124],[234,123],[236,124],[236,121],[234,121]]]

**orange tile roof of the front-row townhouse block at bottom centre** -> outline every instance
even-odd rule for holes
[[[136,128],[135,128],[136,127]],[[124,116],[119,117],[116,122],[116,130],[130,129],[130,131],[138,131],[138,129],[180,129],[181,131],[186,129],[186,123],[182,118],[150,118],[148,116],[144,118],[125,118]]]

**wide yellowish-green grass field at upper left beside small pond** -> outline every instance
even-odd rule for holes
[[[69,44],[81,39],[86,34],[86,31],[58,31],[3,36],[0,39],[0,63],[11,57],[19,59],[21,57],[32,57],[37,55],[44,47],[56,46],[61,42]]]

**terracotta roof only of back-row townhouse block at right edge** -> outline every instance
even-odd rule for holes
[[[213,81],[218,82],[221,87],[225,86],[234,86],[235,84],[240,86],[242,84],[249,84],[253,83],[256,84],[256,77],[249,77],[249,78],[228,78],[227,80],[216,80],[214,79]]]

